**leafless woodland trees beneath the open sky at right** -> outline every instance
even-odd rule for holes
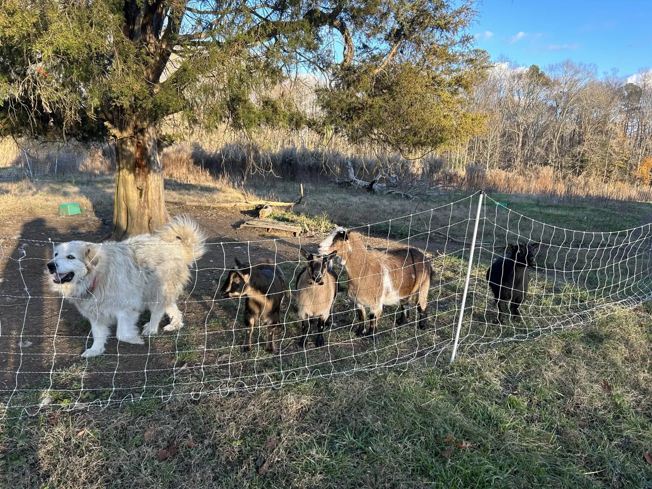
[[[447,159],[456,168],[550,166],[562,178],[649,185],[652,73],[629,80],[571,61],[544,70],[497,63],[469,101],[487,116],[484,130],[454,141]]]

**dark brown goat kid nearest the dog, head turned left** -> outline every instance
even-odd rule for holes
[[[265,349],[274,351],[274,330],[280,324],[280,309],[286,293],[283,271],[270,259],[259,259],[253,265],[243,265],[235,258],[235,270],[231,270],[222,286],[223,297],[246,297],[244,302],[243,351],[251,349],[254,326],[267,326]]]

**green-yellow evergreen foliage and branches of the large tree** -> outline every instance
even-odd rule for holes
[[[481,130],[470,1],[3,0],[0,134],[106,138],[181,115],[207,130],[334,128],[408,151]],[[343,53],[333,51],[333,39]],[[276,89],[327,75],[308,117]]]

